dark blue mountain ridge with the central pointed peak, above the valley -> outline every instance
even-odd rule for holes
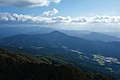
[[[41,51],[46,47],[66,46],[84,53],[96,53],[105,56],[120,57],[120,42],[89,41],[68,36],[59,31],[46,34],[22,34],[0,39],[0,45],[18,49],[34,49]],[[117,47],[117,48],[116,48]]]

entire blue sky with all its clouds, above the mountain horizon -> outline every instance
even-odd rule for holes
[[[120,30],[120,0],[0,0],[0,26]]]

